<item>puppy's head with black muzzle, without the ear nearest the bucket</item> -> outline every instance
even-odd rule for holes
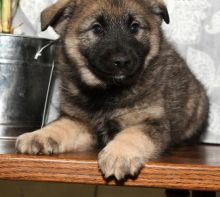
[[[62,17],[53,25],[89,85],[135,82],[157,55],[161,19],[169,22],[159,0],[64,2],[58,2]]]

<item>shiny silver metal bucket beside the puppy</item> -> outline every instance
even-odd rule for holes
[[[51,40],[0,34],[0,138],[41,127],[48,95],[53,48],[35,60]]]

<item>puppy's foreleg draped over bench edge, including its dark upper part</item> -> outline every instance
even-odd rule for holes
[[[99,153],[100,170],[117,180],[134,176],[150,159],[156,158],[169,143],[169,130],[162,122],[140,124],[119,132]]]

